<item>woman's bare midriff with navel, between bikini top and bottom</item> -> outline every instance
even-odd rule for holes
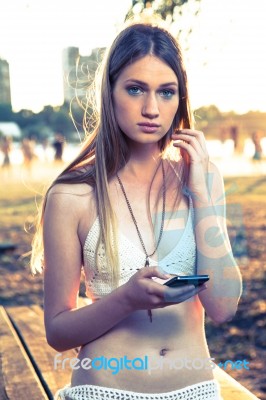
[[[186,302],[152,310],[133,312],[110,331],[80,349],[80,368],[73,370],[72,386],[98,385],[142,393],[162,393],[213,379],[205,339],[204,309],[194,296]],[[135,365],[148,369],[81,367],[83,359],[103,356],[143,361]],[[126,357],[126,359],[125,359]],[[127,366],[130,367],[128,361]],[[146,361],[146,364],[145,364]],[[99,363],[98,363],[99,365]]]

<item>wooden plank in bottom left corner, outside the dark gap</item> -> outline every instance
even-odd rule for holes
[[[0,399],[48,400],[2,306],[0,306],[0,339]]]

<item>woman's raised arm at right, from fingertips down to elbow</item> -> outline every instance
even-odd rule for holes
[[[227,233],[223,179],[209,162],[202,132],[183,129],[173,139],[174,146],[190,158],[188,191],[195,212],[197,273],[210,275],[208,289],[199,297],[209,317],[221,323],[235,315],[242,291]]]

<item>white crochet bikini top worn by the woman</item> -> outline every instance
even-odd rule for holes
[[[196,242],[193,230],[193,207],[189,199],[189,212],[186,226],[181,238],[174,248],[162,259],[155,261],[150,258],[150,265],[160,266],[165,273],[176,275],[196,274]],[[98,265],[95,263],[95,251],[100,234],[100,222],[97,217],[94,221],[84,243],[83,260],[86,283],[86,294],[92,300],[109,294],[113,288],[110,283],[104,245],[98,250]],[[138,269],[145,264],[146,256],[122,232],[118,232],[118,256],[120,265],[119,286],[126,283]]]

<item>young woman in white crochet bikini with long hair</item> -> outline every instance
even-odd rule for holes
[[[126,27],[99,99],[97,126],[49,189],[40,223],[47,340],[58,352],[80,347],[58,398],[219,399],[204,311],[231,319],[241,278],[175,39],[149,24]],[[82,267],[92,304],[77,308]],[[193,274],[208,284],[163,284]]]

